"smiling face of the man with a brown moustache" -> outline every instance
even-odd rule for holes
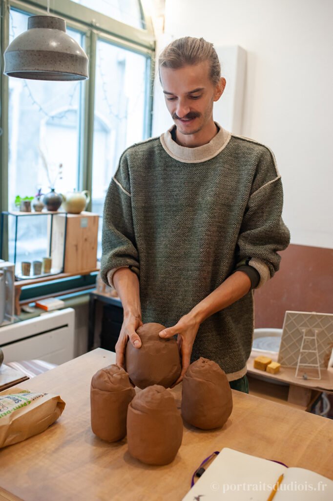
[[[184,66],[176,70],[160,68],[166,107],[183,135],[205,133],[213,124],[213,102],[221,96],[225,80],[214,86],[209,78],[209,63]]]

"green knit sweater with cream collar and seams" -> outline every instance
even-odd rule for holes
[[[282,184],[272,152],[219,128],[197,148],[179,146],[172,128],[127,148],[109,185],[101,277],[130,267],[140,283],[143,323],[173,326],[239,266],[257,287],[274,275],[289,243]],[[206,319],[192,361],[217,362],[234,380],[246,373],[253,334],[252,292]]]

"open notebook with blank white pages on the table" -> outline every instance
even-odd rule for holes
[[[332,501],[333,481],[224,447],[182,501]]]

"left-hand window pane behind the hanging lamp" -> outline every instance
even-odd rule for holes
[[[28,14],[15,10],[9,16],[9,42],[24,32]],[[83,35],[68,35],[83,45]],[[9,78],[8,208],[15,197],[77,189],[80,131],[80,96],[83,82],[47,82]],[[48,174],[43,165],[45,158]],[[59,179],[58,166],[62,164]],[[35,218],[38,219],[38,218]],[[19,235],[18,235],[19,237]]]

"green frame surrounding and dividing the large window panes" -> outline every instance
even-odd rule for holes
[[[152,23],[139,2],[145,29],[134,28],[88,9],[71,0],[51,0],[50,14],[63,18],[66,26],[82,33],[84,50],[89,58],[89,79],[84,83],[85,92],[81,102],[81,136],[79,151],[79,181],[81,190],[92,187],[92,144],[94,120],[95,66],[97,40],[103,40],[146,56],[147,75],[145,93],[145,136],[151,134],[153,60],[155,40]],[[3,75],[3,52],[9,42],[9,9],[31,15],[46,15],[47,0],[1,0],[0,2],[0,210],[8,210],[8,77]],[[91,203],[91,202],[90,202]],[[86,210],[90,210],[90,206]],[[4,235],[5,237],[5,235]],[[4,256],[5,257],[5,256]],[[86,284],[86,279],[83,280]],[[82,283],[83,283],[82,282]],[[61,290],[72,289],[70,279],[61,281]],[[77,282],[76,282],[77,285]],[[30,288],[31,297],[37,295]]]

